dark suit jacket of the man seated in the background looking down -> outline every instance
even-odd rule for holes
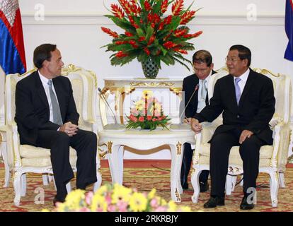
[[[212,71],[212,75],[216,73],[216,71]],[[187,118],[193,117],[197,111],[197,104],[198,104],[198,90],[199,90],[199,79],[197,78],[196,74],[194,73],[191,76],[187,76],[186,78],[183,79],[183,88],[182,91],[184,91],[184,107],[185,109],[185,116]],[[193,95],[193,91],[197,88],[195,91],[195,94]],[[190,100],[191,95],[193,95],[192,99]],[[189,104],[188,101],[190,100]],[[188,104],[188,105],[187,105]],[[207,93],[207,97],[205,99],[205,105],[209,105],[209,97]],[[180,109],[181,112],[183,112],[183,102],[180,103]],[[181,113],[180,113],[181,114]],[[184,119],[184,116],[183,116]],[[183,120],[181,119],[181,120]]]

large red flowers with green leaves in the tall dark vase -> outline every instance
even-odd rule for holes
[[[113,15],[106,15],[115,25],[125,30],[117,34],[108,28],[103,32],[113,37],[106,44],[106,51],[115,52],[110,56],[112,65],[127,64],[133,59],[141,63],[151,58],[161,69],[161,61],[173,65],[177,61],[189,67],[183,57],[189,50],[194,50],[193,43],[187,42],[202,34],[202,31],[190,33],[186,26],[195,18],[196,11],[183,8],[184,0],[118,0],[111,4]],[[172,15],[163,16],[172,4]]]

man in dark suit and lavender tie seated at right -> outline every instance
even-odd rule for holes
[[[226,57],[229,75],[217,81],[210,105],[195,114],[191,121],[193,131],[199,133],[202,130],[200,122],[213,121],[223,112],[223,124],[214,131],[209,141],[212,190],[205,208],[224,206],[232,146],[239,146],[243,160],[243,199],[240,208],[249,210],[254,207],[249,198],[255,191],[260,147],[272,145],[269,121],[275,112],[275,97],[270,78],[251,70],[250,64],[250,49],[243,45],[232,46]]]

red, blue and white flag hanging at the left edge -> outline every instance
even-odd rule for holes
[[[0,0],[0,66],[6,74],[26,71],[18,0]]]

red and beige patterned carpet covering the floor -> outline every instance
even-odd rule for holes
[[[125,164],[124,171],[124,185],[136,187],[138,191],[151,191],[155,187],[159,196],[170,200],[170,167],[167,165],[159,165],[163,169],[156,168],[154,164],[141,165],[142,168],[131,163]],[[103,184],[110,183],[110,169],[107,164],[102,164],[101,172],[103,174]],[[293,168],[288,168],[285,173],[286,188],[279,190],[279,203],[277,208],[272,208],[270,204],[270,190],[268,188],[269,177],[268,174],[260,174],[258,177],[258,204],[251,211],[265,211],[265,212],[293,212]],[[27,194],[21,198],[21,206],[13,205],[14,192],[12,182],[8,188],[3,188],[4,184],[4,167],[0,167],[0,211],[40,211],[43,208],[51,210],[52,200],[54,198],[54,185],[51,182],[49,186],[42,185],[42,177],[39,174],[28,174],[27,176]],[[75,187],[75,181],[71,182],[71,186]],[[43,189],[43,190],[42,190]],[[91,187],[88,188],[90,190]],[[42,203],[35,203],[35,198],[38,201],[40,191],[44,191],[45,200]],[[199,202],[192,203],[190,197],[193,195],[193,189],[190,184],[190,189],[184,191],[181,195],[182,203],[179,205],[190,206],[193,211],[207,211],[203,208],[203,203],[209,198],[209,192],[200,194]],[[212,212],[238,212],[239,204],[241,202],[242,192],[241,186],[236,186],[235,191],[231,196],[226,196],[226,206],[209,209]]]

